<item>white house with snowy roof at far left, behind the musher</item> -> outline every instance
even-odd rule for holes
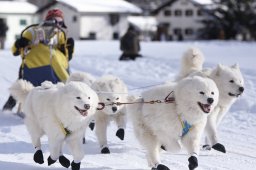
[[[7,42],[14,42],[26,26],[35,23],[37,7],[24,1],[0,1],[0,18],[4,19],[8,31]]]

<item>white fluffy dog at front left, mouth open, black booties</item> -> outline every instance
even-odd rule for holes
[[[50,156],[48,165],[59,159],[68,168],[70,162],[62,155],[64,141],[73,155],[71,167],[80,169],[84,157],[82,137],[84,125],[95,114],[97,94],[85,83],[68,84],[44,82],[39,87],[25,80],[18,80],[10,87],[11,94],[22,103],[25,125],[36,149],[34,161],[44,163],[40,138],[48,137]]]

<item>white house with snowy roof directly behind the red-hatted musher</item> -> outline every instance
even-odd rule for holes
[[[74,39],[118,39],[127,30],[127,17],[142,13],[140,8],[124,0],[57,0],[38,13],[44,17],[52,8],[64,12],[68,36]]]

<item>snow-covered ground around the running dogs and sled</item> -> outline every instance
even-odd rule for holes
[[[10,44],[10,43],[9,43]],[[10,47],[10,45],[8,45]],[[142,42],[143,58],[120,62],[118,41],[76,41],[71,71],[84,71],[99,77],[113,74],[125,81],[131,94],[139,94],[146,87],[173,80],[179,70],[183,52],[191,46],[198,47],[205,54],[205,67],[218,63],[238,63],[245,78],[245,92],[231,107],[219,129],[220,141],[227,153],[200,151],[198,170],[254,170],[256,166],[256,43],[255,42]],[[13,57],[10,49],[0,51],[0,106],[9,93],[8,87],[17,79],[19,57]],[[16,110],[16,108],[15,108]],[[86,155],[81,169],[86,170],[142,170],[147,166],[145,150],[134,137],[128,121],[124,141],[116,136],[116,126],[110,124],[108,141],[111,154],[102,155],[94,131],[87,130],[84,145]],[[0,169],[32,170],[63,169],[57,162],[47,166],[49,156],[47,138],[43,138],[45,163],[33,162],[34,148],[23,120],[13,113],[0,112]],[[72,160],[69,150],[65,155]],[[188,156],[180,153],[161,154],[161,161],[170,169],[188,169]]]

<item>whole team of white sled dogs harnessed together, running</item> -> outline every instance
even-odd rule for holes
[[[107,141],[109,122],[116,123],[116,136],[124,140],[129,119],[152,170],[169,170],[160,161],[161,150],[182,149],[187,151],[188,167],[193,170],[198,167],[201,146],[226,152],[217,129],[244,91],[237,64],[219,64],[212,69],[203,68],[203,64],[202,52],[188,49],[175,81],[145,90],[140,96],[129,95],[125,83],[116,76],[96,79],[88,73],[73,73],[66,84],[46,81],[39,87],[18,80],[10,92],[25,113],[24,122],[35,148],[36,163],[44,163],[40,139],[46,135],[50,151],[48,165],[59,160],[63,167],[79,170],[86,128],[93,129],[95,125],[100,152],[108,154],[111,151]],[[164,100],[161,104],[149,104],[158,99]],[[201,141],[203,135],[205,140]],[[71,163],[62,153],[64,143],[73,156]]]

